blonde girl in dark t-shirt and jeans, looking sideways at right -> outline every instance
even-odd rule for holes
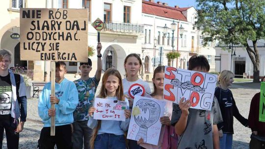
[[[247,126],[245,119],[238,111],[235,99],[229,86],[234,82],[234,74],[224,70],[218,77],[218,86],[215,88],[214,95],[217,98],[222,113],[223,122],[217,124],[220,137],[220,149],[232,149],[233,142],[233,117],[242,125]]]

